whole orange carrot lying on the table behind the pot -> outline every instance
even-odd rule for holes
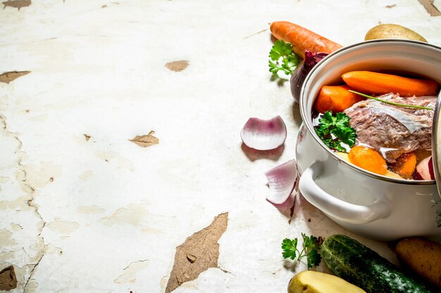
[[[270,30],[276,39],[282,39],[292,44],[292,51],[303,59],[305,58],[305,50],[314,53],[332,53],[342,48],[341,45],[292,22],[273,22],[270,25]]]

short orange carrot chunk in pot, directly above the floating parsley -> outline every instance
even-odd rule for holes
[[[360,100],[364,100],[362,96],[348,91],[349,86],[322,86],[314,108],[317,112],[324,113],[326,111],[343,112]]]

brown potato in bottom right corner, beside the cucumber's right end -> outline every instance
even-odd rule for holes
[[[396,253],[404,267],[441,289],[441,243],[410,237],[398,242]]]

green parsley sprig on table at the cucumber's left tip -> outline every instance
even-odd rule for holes
[[[315,237],[313,235],[307,236],[302,233],[303,246],[302,249],[297,249],[298,240],[297,238],[288,239],[285,238],[282,241],[282,256],[284,259],[292,259],[300,261],[303,257],[306,257],[308,268],[313,266],[318,266],[321,262],[321,255],[318,253],[320,250],[321,243],[323,239],[321,237]]]

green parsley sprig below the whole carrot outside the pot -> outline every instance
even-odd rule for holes
[[[273,74],[282,71],[290,75],[299,64],[299,57],[292,51],[292,44],[281,39],[275,41],[269,58],[270,72]]]

